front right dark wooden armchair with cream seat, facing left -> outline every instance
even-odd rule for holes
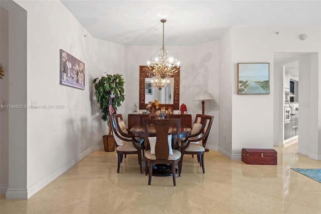
[[[198,133],[195,135],[191,135],[190,137],[188,137],[186,144],[183,145],[182,143],[182,147],[181,147],[182,157],[181,157],[181,160],[179,161],[179,175],[181,175],[183,157],[185,154],[197,155],[200,166],[202,166],[203,173],[205,173],[204,152],[205,152],[207,139],[209,137],[209,133],[214,120],[214,116],[204,115],[203,117],[204,118],[203,118],[202,128],[199,131],[202,133],[202,135],[200,137],[197,137],[199,136],[197,135]],[[198,143],[194,143],[194,142],[198,142]]]

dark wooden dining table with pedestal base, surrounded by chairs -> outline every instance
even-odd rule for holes
[[[132,132],[134,137],[145,138],[145,129],[144,125],[135,125],[133,126],[130,131]],[[179,138],[186,138],[192,132],[192,129],[188,126],[181,125],[181,129],[179,131]],[[169,128],[169,135],[172,135],[172,139],[177,139],[178,136],[176,134],[176,126],[170,126]],[[153,137],[156,136],[156,130],[153,125],[148,126],[148,136]],[[153,176],[172,176],[172,166],[170,164],[153,164],[152,175]],[[176,168],[176,173],[177,173]]]

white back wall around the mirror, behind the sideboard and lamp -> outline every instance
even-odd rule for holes
[[[146,65],[148,60],[156,57],[159,47],[126,46],[125,93],[128,105],[126,105],[123,115],[133,113],[133,103],[138,102],[139,65]],[[175,57],[181,62],[180,105],[186,104],[188,114],[192,114],[192,121],[194,121],[195,115],[202,111],[201,102],[193,101],[199,90],[208,90],[215,99],[205,101],[205,114],[215,117],[207,146],[217,149],[219,121],[218,42],[186,47],[166,46],[166,48],[169,51],[169,57]],[[129,90],[129,87],[132,90]],[[127,117],[124,120],[127,120]]]

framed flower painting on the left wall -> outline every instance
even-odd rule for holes
[[[85,89],[85,63],[60,49],[60,84]]]

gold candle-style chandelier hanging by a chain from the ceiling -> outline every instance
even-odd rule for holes
[[[162,79],[173,76],[180,69],[180,62],[177,59],[168,58],[167,50],[164,46],[164,23],[166,19],[162,19],[163,23],[163,46],[159,50],[159,58],[152,58],[151,62],[147,62],[148,71],[152,73],[154,76],[158,76]]]

